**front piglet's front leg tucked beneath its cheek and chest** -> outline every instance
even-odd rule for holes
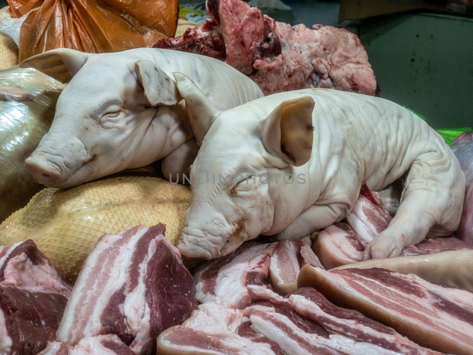
[[[348,214],[349,207],[343,202],[327,205],[312,205],[302,212],[284,232],[276,234],[278,240],[294,240],[305,237],[316,230],[332,225]]]

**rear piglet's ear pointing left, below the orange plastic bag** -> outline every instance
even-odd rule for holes
[[[74,49],[57,48],[25,59],[19,67],[35,68],[62,83],[68,83],[90,55]]]

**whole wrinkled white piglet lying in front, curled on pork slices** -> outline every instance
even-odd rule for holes
[[[205,135],[190,173],[183,255],[215,258],[258,234],[301,238],[345,218],[363,183],[379,190],[408,170],[396,215],[364,257],[397,256],[457,228],[464,173],[438,133],[402,106],[306,89],[220,113],[190,78],[174,75],[195,136]]]

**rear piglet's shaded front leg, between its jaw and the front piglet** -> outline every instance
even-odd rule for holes
[[[189,167],[194,162],[199,147],[195,143],[195,138],[189,139],[174,152],[165,156],[161,161],[161,170],[164,178],[171,182],[188,182]],[[187,180],[184,179],[184,175]]]

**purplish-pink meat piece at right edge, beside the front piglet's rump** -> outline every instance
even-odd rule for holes
[[[462,219],[455,237],[464,242],[473,243],[473,132],[464,132],[459,135],[452,143],[452,150],[466,177]]]

